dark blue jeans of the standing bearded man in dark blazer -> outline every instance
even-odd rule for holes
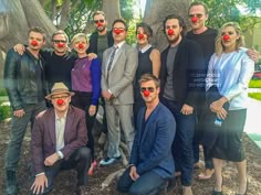
[[[182,115],[181,107],[176,101],[163,98],[161,102],[171,111],[177,123],[176,137],[173,142],[176,171],[181,172],[181,184],[190,186],[194,174],[195,113]]]

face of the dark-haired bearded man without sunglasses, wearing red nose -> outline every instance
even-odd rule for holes
[[[177,43],[181,39],[182,28],[179,25],[178,19],[169,19],[165,23],[165,34],[170,44]]]

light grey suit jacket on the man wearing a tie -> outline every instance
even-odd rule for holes
[[[111,104],[133,104],[133,80],[138,64],[138,52],[126,43],[118,50],[109,73],[107,73],[107,64],[113,46],[103,53],[102,90],[112,91],[115,98],[109,100]]]

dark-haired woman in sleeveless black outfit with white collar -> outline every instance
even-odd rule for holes
[[[138,80],[145,73],[150,73],[156,77],[159,76],[160,53],[157,48],[149,44],[153,37],[153,30],[146,23],[139,23],[136,28],[136,37],[138,45],[138,67],[134,79],[134,122],[136,126],[136,117],[140,107],[144,107],[144,100],[140,95]]]

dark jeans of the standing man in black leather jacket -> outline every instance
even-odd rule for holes
[[[36,105],[23,105],[25,115],[21,118],[14,116],[12,117],[10,141],[6,154],[6,170],[17,171],[22,141],[27,131],[28,123],[31,121],[32,128],[34,117],[45,109],[45,101],[41,101]]]

